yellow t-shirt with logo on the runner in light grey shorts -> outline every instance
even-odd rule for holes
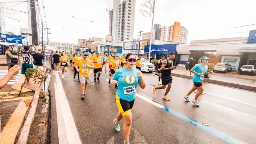
[[[91,61],[90,59],[80,59],[78,61],[76,61],[75,63],[77,66],[79,66],[79,75],[80,76],[84,76],[84,77],[89,77],[90,75],[90,68],[88,66],[85,67],[85,64],[89,65],[89,66],[93,66],[93,61]]]

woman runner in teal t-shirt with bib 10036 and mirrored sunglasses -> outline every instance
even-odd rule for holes
[[[119,122],[122,118],[124,118],[124,143],[129,144],[132,122],[131,109],[136,96],[136,87],[139,84],[139,86],[144,89],[146,87],[146,82],[143,79],[142,72],[134,68],[136,61],[135,55],[133,53],[128,53],[125,59],[127,61],[126,67],[118,69],[110,80],[110,83],[112,85],[118,84],[118,90],[115,97],[119,112],[117,114],[117,118],[115,118],[113,121],[115,131],[120,131]]]

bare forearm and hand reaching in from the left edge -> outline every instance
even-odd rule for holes
[[[10,79],[12,79],[18,73],[19,73],[19,66],[18,65],[14,65],[13,67],[11,67],[8,71],[8,74],[6,74],[5,77],[0,79],[0,90],[7,84],[7,82],[10,81]]]

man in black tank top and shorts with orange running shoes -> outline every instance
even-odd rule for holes
[[[162,62],[162,86],[153,87],[153,94],[155,94],[157,89],[165,89],[166,85],[168,85],[165,94],[163,95],[163,99],[169,101],[170,99],[167,97],[168,92],[171,89],[172,77],[171,77],[171,70],[175,69],[176,66],[173,66],[172,59],[175,58],[175,53],[170,52],[167,59],[163,60]]]

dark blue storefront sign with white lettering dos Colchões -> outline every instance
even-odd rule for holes
[[[152,45],[150,54],[169,54],[170,52],[177,54],[176,46],[177,44]],[[149,45],[145,46],[144,53],[149,54]]]

